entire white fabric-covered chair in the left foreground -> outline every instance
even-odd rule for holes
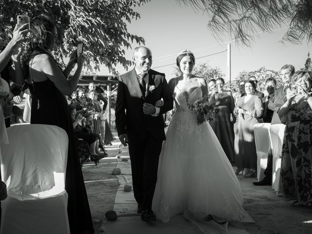
[[[19,124],[1,145],[0,234],[69,234],[65,172],[67,133],[53,125]]]

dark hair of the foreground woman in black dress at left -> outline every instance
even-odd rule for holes
[[[52,29],[54,23],[45,15],[39,15],[30,21],[30,43],[28,44],[25,53],[22,56],[23,61],[29,64],[31,55],[34,52],[40,54],[50,54],[54,40]]]

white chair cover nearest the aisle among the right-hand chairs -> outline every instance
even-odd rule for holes
[[[257,153],[257,178],[258,181],[264,178],[264,171],[267,168],[268,150],[270,145],[269,128],[271,123],[257,123],[254,125],[254,141]]]

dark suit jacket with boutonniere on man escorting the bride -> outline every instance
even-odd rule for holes
[[[165,123],[162,114],[173,108],[173,96],[165,74],[151,69],[148,71],[145,96],[142,95],[139,87],[135,69],[121,75],[118,79],[115,110],[118,136],[125,133],[131,136],[144,134],[149,130],[156,140],[165,140]],[[160,107],[157,117],[143,114],[144,102],[155,105],[161,98],[164,104]]]

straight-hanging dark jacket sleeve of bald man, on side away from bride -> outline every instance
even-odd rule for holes
[[[122,78],[118,78],[117,99],[115,109],[115,123],[118,136],[126,133],[126,97],[125,97],[125,84]]]

